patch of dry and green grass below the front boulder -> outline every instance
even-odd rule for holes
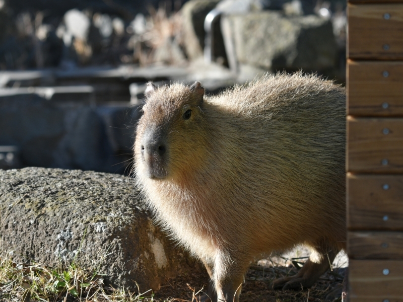
[[[17,264],[12,253],[0,253],[0,301],[154,301],[152,292],[139,293],[105,286],[94,262],[88,269],[72,263],[69,267]]]

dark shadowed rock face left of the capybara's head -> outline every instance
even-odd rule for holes
[[[18,146],[24,166],[123,173],[140,116],[139,108],[128,106],[3,96],[0,145]]]

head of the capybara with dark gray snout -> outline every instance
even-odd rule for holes
[[[156,181],[186,178],[203,165],[206,119],[204,88],[148,83],[134,146],[137,177]]]

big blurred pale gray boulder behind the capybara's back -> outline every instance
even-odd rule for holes
[[[334,67],[337,45],[331,22],[315,15],[287,17],[266,11],[221,19],[232,69],[249,64],[268,70]]]

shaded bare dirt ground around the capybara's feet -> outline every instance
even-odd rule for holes
[[[275,256],[258,261],[252,265],[245,276],[245,282],[240,295],[240,302],[337,302],[341,301],[344,273],[347,257],[340,254],[328,270],[309,289],[300,290],[271,290],[270,284],[276,278],[297,273],[299,266],[306,261],[309,251],[296,249],[282,256]],[[292,257],[297,256],[297,257]],[[154,299],[159,302],[170,298],[169,301],[195,301],[193,294],[207,289],[209,276],[207,272],[193,273],[169,279],[155,293]],[[203,294],[199,292],[199,294]]]

